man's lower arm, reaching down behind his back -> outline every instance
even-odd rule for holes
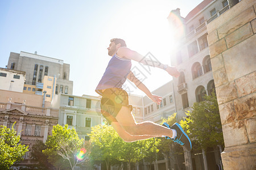
[[[148,88],[139,79],[137,79],[135,77],[133,72],[130,71],[129,75],[127,76],[127,79],[129,79],[131,82],[133,82],[139,88],[139,90],[143,91],[148,96],[148,98],[150,98],[156,104],[161,103],[162,97],[151,94],[151,92],[148,90]]]

